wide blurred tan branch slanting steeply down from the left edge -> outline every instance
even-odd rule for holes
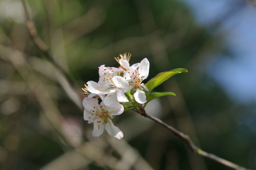
[[[46,117],[51,122],[52,127],[54,127],[56,134],[68,145],[67,139],[62,136],[60,129],[60,121],[64,121],[64,118],[52,100],[49,90],[45,87],[30,64],[26,61],[23,56],[24,54],[20,51],[2,45],[0,45],[0,51],[24,79],[29,90],[34,94]]]

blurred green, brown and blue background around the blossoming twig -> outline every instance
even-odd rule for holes
[[[191,153],[135,112],[113,119],[121,140],[92,136],[82,90],[98,67],[147,58],[157,87],[148,113],[209,153],[256,169],[256,6],[253,0],[26,0],[56,68],[31,39],[19,0],[0,0],[1,170],[228,170]],[[71,82],[71,83],[69,83]],[[146,83],[146,80],[145,82]]]

